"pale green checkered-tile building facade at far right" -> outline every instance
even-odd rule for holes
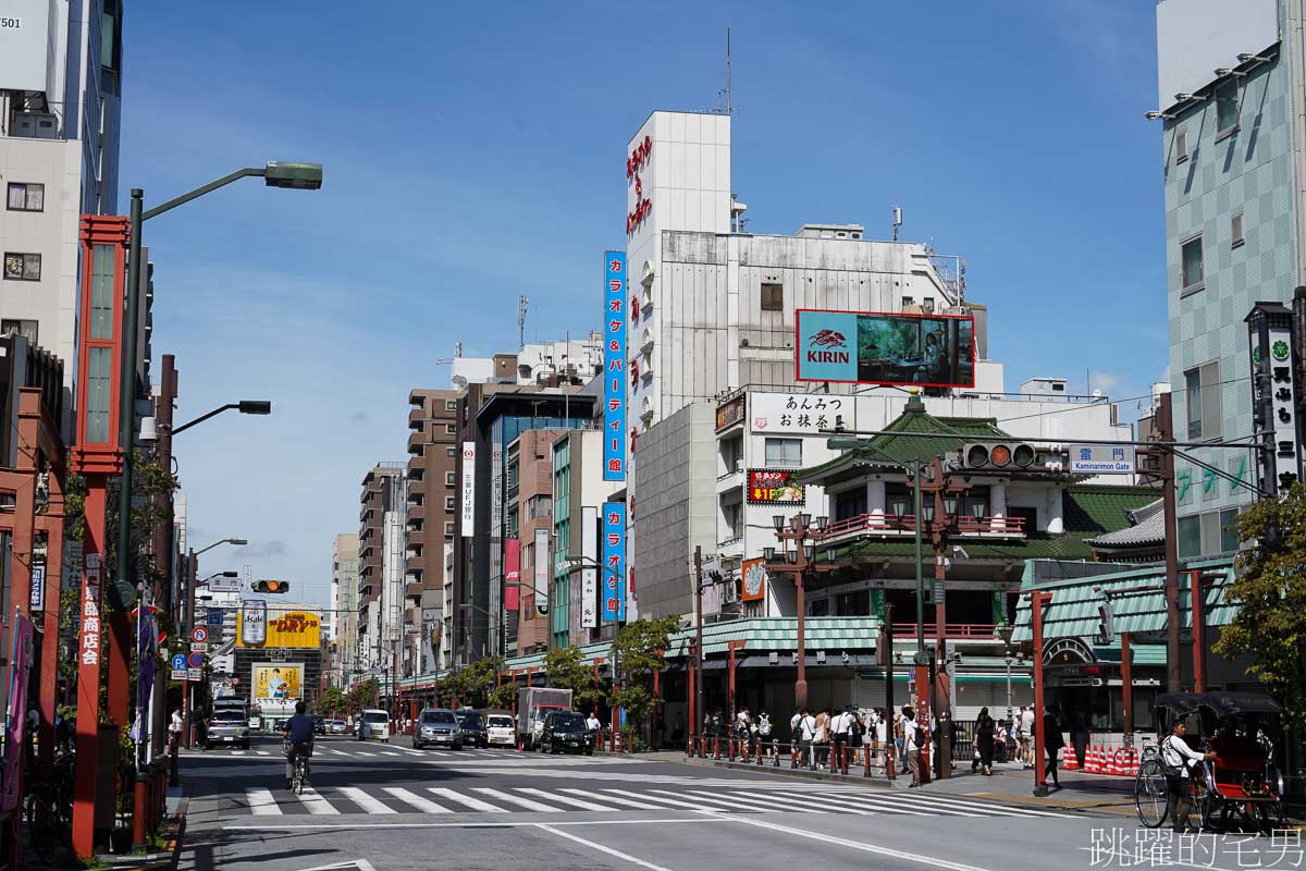
[[[1162,0],[1157,107],[1162,121],[1166,285],[1174,435],[1230,441],[1252,434],[1243,319],[1258,302],[1292,304],[1306,283],[1306,63],[1301,0],[1198,4]],[[1252,482],[1242,451],[1196,449]],[[1235,551],[1230,526],[1255,499],[1175,460],[1181,558]]]

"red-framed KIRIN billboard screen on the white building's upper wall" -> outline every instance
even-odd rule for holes
[[[799,381],[974,387],[974,317],[799,308]]]

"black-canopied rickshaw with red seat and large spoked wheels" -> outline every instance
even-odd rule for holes
[[[1280,733],[1282,708],[1258,692],[1168,692],[1156,700],[1157,743],[1147,742],[1134,780],[1134,807],[1148,828],[1168,814],[1160,742],[1175,720],[1188,718],[1186,740],[1215,751],[1190,776],[1187,824],[1200,829],[1238,828],[1269,833],[1284,820],[1284,777],[1275,763],[1272,735]],[[1218,819],[1217,819],[1218,817]]]

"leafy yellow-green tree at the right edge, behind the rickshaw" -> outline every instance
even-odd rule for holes
[[[1238,517],[1238,539],[1256,547],[1238,556],[1225,599],[1238,606],[1213,650],[1250,654],[1247,674],[1284,705],[1292,726],[1306,726],[1306,484],[1262,499]]]

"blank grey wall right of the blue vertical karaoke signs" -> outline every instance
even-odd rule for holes
[[[716,409],[696,402],[640,439],[633,559],[643,616],[693,612],[693,548],[716,548],[714,420]]]

